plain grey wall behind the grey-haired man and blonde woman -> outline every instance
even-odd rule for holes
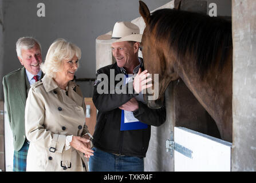
[[[116,21],[129,21],[139,17],[137,0],[1,0],[5,19],[5,54],[0,58],[0,99],[2,76],[21,65],[15,53],[15,42],[19,37],[31,35],[42,44],[45,58],[50,44],[59,37],[76,43],[82,50],[77,78],[94,78],[95,39],[107,33]],[[145,0],[155,9],[169,0]],[[45,17],[38,17],[38,3],[45,4]],[[1,25],[0,25],[1,26]],[[1,31],[0,31],[1,40]],[[2,42],[2,41],[1,41]],[[1,54],[2,55],[2,54]],[[92,97],[93,82],[79,82],[85,97]]]

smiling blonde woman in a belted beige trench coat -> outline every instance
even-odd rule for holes
[[[80,87],[72,82],[81,50],[57,39],[41,65],[44,78],[29,90],[25,130],[27,171],[86,171],[93,156]]]

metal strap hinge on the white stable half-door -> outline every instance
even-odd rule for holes
[[[192,159],[192,150],[187,149],[184,146],[174,142],[174,133],[171,132],[170,140],[166,140],[166,152],[170,152],[171,157],[174,157],[174,150]]]

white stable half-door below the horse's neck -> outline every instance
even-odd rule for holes
[[[182,127],[174,128],[174,141],[192,151],[189,158],[175,150],[175,172],[231,171],[230,142]]]

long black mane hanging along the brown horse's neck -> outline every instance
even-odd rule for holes
[[[160,9],[151,14],[149,31],[152,32],[155,26],[156,41],[167,40],[169,50],[175,50],[179,60],[189,51],[201,78],[215,65],[220,48],[219,70],[223,68],[232,47],[231,21],[188,11]]]

